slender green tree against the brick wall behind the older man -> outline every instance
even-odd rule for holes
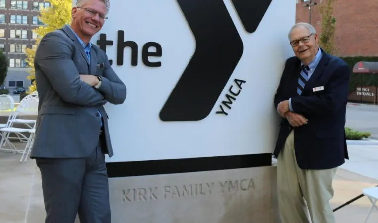
[[[334,37],[336,30],[336,19],[333,17],[332,7],[332,3],[334,1],[335,0],[323,0],[323,3],[319,5],[319,12],[321,16],[321,35],[319,45],[329,54],[333,54],[335,52]]]

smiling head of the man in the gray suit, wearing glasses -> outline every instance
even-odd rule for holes
[[[72,8],[71,28],[84,42],[89,42],[104,25],[106,5],[101,0],[84,0],[82,2]]]

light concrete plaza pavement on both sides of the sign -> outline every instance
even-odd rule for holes
[[[24,143],[15,143],[17,147]],[[378,146],[349,146],[351,160],[338,169],[331,200],[336,208],[378,184]],[[41,175],[35,160],[20,163],[20,155],[0,152],[0,223],[43,223],[45,217]],[[376,169],[374,169],[376,168]],[[375,170],[375,171],[374,171]],[[364,176],[368,175],[368,176]],[[335,212],[337,223],[363,223],[371,206],[366,197]],[[378,223],[373,210],[368,223]]]

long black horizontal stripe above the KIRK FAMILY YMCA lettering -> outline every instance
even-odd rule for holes
[[[109,178],[228,170],[272,165],[272,154],[106,163]]]

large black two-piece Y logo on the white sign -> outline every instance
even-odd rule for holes
[[[232,0],[245,30],[253,33],[272,0]],[[160,111],[162,121],[206,118],[243,54],[243,42],[223,0],[177,0],[196,49]],[[253,49],[249,49],[253,50]]]

